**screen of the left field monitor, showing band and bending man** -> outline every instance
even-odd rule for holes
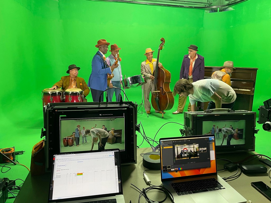
[[[63,118],[60,118],[60,152],[125,150],[124,117]]]

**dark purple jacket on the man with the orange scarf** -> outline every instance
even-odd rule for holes
[[[188,54],[183,56],[183,62],[180,71],[180,79],[188,79],[190,59]],[[192,71],[193,82],[204,79],[204,57],[198,54]]]

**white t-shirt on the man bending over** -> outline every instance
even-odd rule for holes
[[[230,104],[235,101],[235,91],[228,84],[215,79],[203,79],[193,82],[194,93],[189,94],[191,105],[196,102],[210,102],[211,96],[217,93],[222,98],[222,104]]]

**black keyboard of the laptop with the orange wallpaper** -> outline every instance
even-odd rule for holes
[[[188,195],[199,192],[225,189],[223,185],[221,185],[215,178],[172,183],[171,186],[174,188],[178,195]]]

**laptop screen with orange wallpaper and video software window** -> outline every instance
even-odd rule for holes
[[[161,180],[217,173],[214,135],[160,139]]]

